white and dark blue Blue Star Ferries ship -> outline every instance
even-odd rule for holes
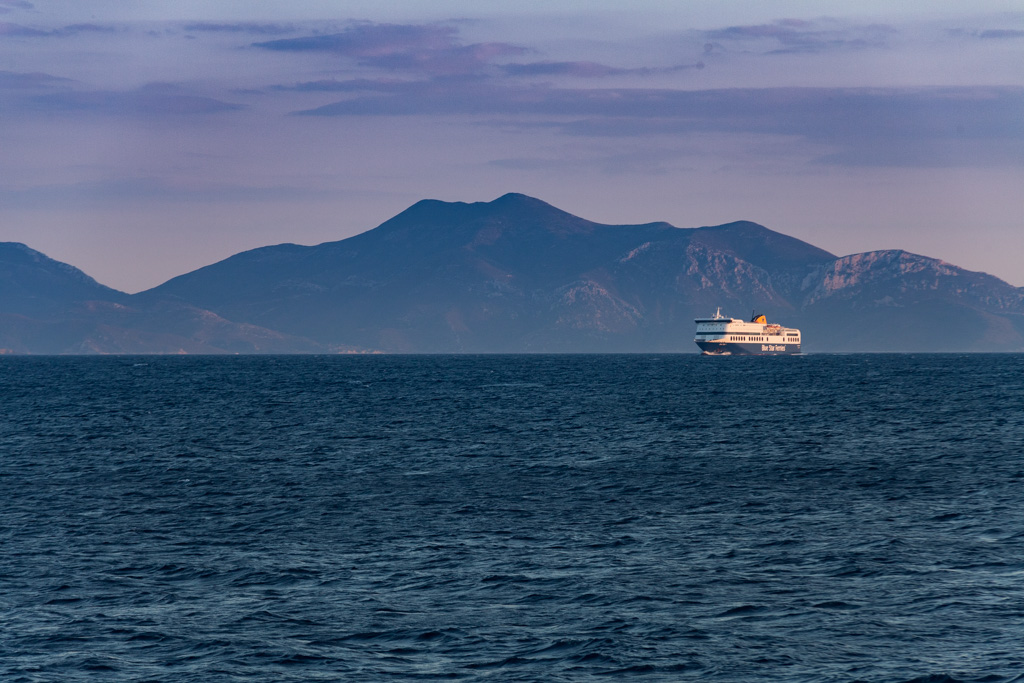
[[[698,317],[693,340],[705,355],[778,355],[800,353],[800,330],[769,324],[757,312],[746,323],[725,317],[721,307],[714,317]]]

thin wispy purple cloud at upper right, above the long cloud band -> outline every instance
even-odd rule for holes
[[[770,47],[766,52],[783,54],[886,47],[896,33],[892,27],[881,24],[845,26],[835,22],[781,19],[773,24],[727,27],[705,32],[703,36],[706,40],[731,43],[743,49],[765,43]]]

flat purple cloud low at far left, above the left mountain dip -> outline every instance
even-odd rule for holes
[[[242,104],[181,92],[162,83],[134,90],[56,92],[33,97],[32,104],[37,110],[48,112],[92,112],[117,116],[191,116],[243,109]]]

